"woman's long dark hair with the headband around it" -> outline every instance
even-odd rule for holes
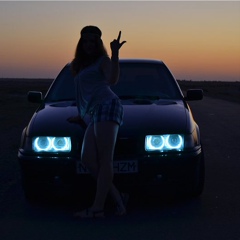
[[[82,37],[79,39],[76,50],[75,50],[75,56],[71,63],[71,69],[72,69],[73,75],[78,74],[79,71],[81,71],[85,67],[94,63],[99,57],[108,56],[107,50],[104,47],[103,41],[101,39],[102,33],[98,27],[86,26],[81,30],[80,33],[81,35],[88,34],[88,33],[94,35],[96,51],[92,56],[87,55],[83,50]]]

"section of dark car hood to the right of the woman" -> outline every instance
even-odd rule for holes
[[[124,135],[190,133],[193,121],[188,105],[182,100],[159,100],[151,104],[124,105]],[[130,131],[129,131],[130,130]]]

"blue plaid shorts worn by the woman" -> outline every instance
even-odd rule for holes
[[[111,99],[98,104],[90,115],[91,124],[104,121],[116,122],[119,125],[123,123],[123,107],[119,99]]]

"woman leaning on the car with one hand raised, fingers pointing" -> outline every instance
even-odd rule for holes
[[[123,108],[110,85],[119,77],[119,49],[126,42],[118,38],[110,43],[111,58],[101,39],[102,32],[96,26],[86,26],[72,61],[75,75],[76,101],[79,116],[69,119],[76,122],[86,114],[91,116],[82,145],[82,162],[97,180],[95,200],[92,206],[75,216],[81,218],[103,217],[107,194],[110,192],[118,205],[118,214],[126,214],[122,197],[113,184],[113,154]]]

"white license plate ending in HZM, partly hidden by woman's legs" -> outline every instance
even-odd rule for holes
[[[114,173],[124,174],[124,173],[137,173],[138,172],[138,161],[114,161],[113,162]],[[82,162],[77,161],[77,174],[88,174],[88,169],[82,164]]]

